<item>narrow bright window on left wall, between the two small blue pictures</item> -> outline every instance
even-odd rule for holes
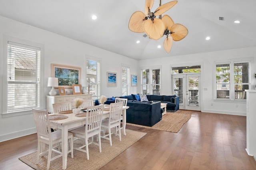
[[[122,66],[122,96],[130,95],[130,68]]]

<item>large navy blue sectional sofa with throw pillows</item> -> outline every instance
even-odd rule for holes
[[[171,99],[174,97],[174,99]],[[139,101],[136,99],[135,95],[127,95],[119,98],[126,98],[127,106],[129,109],[126,110],[126,122],[133,123],[137,125],[144,125],[152,127],[162,119],[163,109],[160,109],[161,102],[168,103],[168,111],[177,111],[179,105],[177,106],[172,101],[179,101],[176,96],[164,97],[161,95],[147,95],[148,102]],[[153,102],[151,101],[153,100]],[[115,102],[115,97],[110,97],[104,104],[110,104]],[[95,105],[99,105],[98,100],[95,101]],[[166,109],[167,110],[167,109]]]

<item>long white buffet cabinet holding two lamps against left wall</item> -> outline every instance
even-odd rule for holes
[[[80,98],[84,100],[92,100],[92,95],[55,95],[55,96],[46,96],[46,109],[48,113],[53,113],[52,104],[54,103],[68,103],[71,102],[72,109],[75,108],[75,99]]]

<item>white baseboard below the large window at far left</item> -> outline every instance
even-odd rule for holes
[[[18,132],[9,133],[9,134],[4,134],[4,135],[0,136],[0,139],[1,139],[0,142],[4,142],[6,140],[19,138],[19,137],[26,136],[26,135],[29,135],[29,134],[34,134],[34,133],[36,133],[36,127],[26,129],[26,130],[22,130],[22,131],[18,131]]]

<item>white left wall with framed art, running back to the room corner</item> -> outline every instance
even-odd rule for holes
[[[47,87],[48,77],[51,77],[51,63],[81,67],[81,78],[85,78],[85,58],[96,58],[102,64],[102,95],[107,97],[120,96],[121,92],[121,65],[130,66],[130,73],[137,74],[137,61],[128,57],[78,42],[58,34],[54,34],[36,27],[32,27],[8,18],[0,16],[0,103],[2,103],[3,82],[3,37],[11,36],[18,39],[41,43],[44,45],[44,100],[46,108],[46,95],[50,87]],[[117,87],[106,86],[106,72],[117,73]],[[58,90],[56,90],[58,92]],[[137,87],[131,87],[130,93],[136,93]],[[32,114],[2,118],[2,104],[0,105],[0,142],[17,138],[36,132]]]

